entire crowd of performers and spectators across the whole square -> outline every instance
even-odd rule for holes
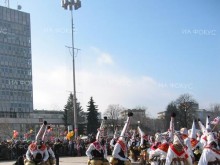
[[[69,139],[50,140],[49,126],[44,121],[34,141],[1,142],[7,146],[15,165],[59,165],[59,156],[87,156],[88,165],[220,165],[219,133],[214,131],[220,124],[216,117],[206,125],[198,120],[199,129],[174,129],[175,114],[171,115],[167,132],[148,135],[140,126],[130,130],[133,113],[128,113],[122,130],[115,129],[114,136],[109,139],[107,117],[104,117],[96,136],[82,140]],[[214,126],[211,128],[211,126]],[[4,147],[1,151],[7,153]],[[110,158],[109,158],[110,157]]]

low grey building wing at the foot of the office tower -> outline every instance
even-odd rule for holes
[[[34,110],[32,113],[25,114],[28,114],[28,117],[0,117],[0,138],[10,138],[13,130],[17,130],[20,138],[22,138],[30,129],[33,130],[33,136],[35,137],[44,121],[47,121],[55,132],[58,130],[60,132],[64,131],[63,111]]]

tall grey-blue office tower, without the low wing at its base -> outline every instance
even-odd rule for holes
[[[33,112],[30,14],[0,6],[0,117]]]

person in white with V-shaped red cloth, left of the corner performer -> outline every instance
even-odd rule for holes
[[[169,145],[165,165],[176,163],[179,165],[193,164],[190,153],[187,151],[187,147],[183,143],[183,139],[181,139],[179,135],[174,134],[173,144]]]

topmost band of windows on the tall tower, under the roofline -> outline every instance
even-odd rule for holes
[[[30,14],[0,6],[0,19],[20,24],[30,24]]]

